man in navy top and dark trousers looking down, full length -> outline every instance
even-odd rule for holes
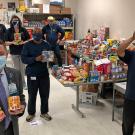
[[[22,50],[22,62],[27,64],[27,86],[28,86],[28,116],[26,121],[30,122],[36,114],[36,97],[39,90],[41,98],[41,115],[43,119],[50,121],[48,114],[48,100],[50,91],[50,79],[47,63],[43,62],[42,51],[49,51],[50,45],[42,39],[42,30],[35,28],[33,40],[27,42]]]

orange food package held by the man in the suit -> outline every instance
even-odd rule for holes
[[[9,96],[8,97],[8,106],[10,111],[16,111],[20,109],[21,102],[19,96]]]

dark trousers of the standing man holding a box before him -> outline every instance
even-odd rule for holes
[[[36,77],[32,79],[27,77],[28,85],[28,113],[34,115],[36,113],[36,97],[39,90],[41,99],[41,114],[47,113],[49,111],[48,100],[50,92],[50,78],[49,76]]]

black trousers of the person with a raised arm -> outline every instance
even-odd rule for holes
[[[135,124],[135,101],[125,99],[123,110],[123,135],[133,135]]]

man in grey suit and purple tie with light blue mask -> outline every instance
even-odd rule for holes
[[[26,106],[22,78],[18,70],[6,67],[6,62],[7,50],[0,41],[0,135],[19,135],[18,118],[24,114]],[[9,111],[8,97],[13,90],[20,96],[21,106],[19,110]]]

